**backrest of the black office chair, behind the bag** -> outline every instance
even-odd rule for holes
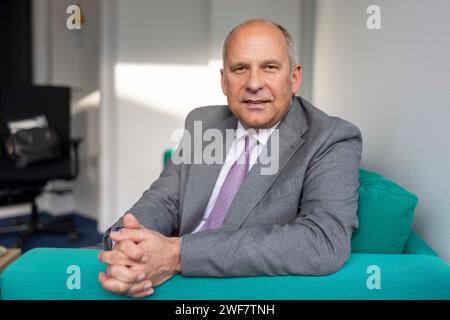
[[[18,169],[7,159],[4,141],[7,122],[45,115],[61,142],[62,159]],[[5,86],[0,88],[0,189],[5,183],[43,183],[74,179],[70,139],[70,89],[51,86]]]

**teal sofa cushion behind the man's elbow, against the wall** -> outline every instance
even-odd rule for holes
[[[358,218],[352,252],[402,253],[417,197],[383,176],[360,169]]]

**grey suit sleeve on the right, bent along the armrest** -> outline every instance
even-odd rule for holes
[[[326,275],[339,270],[350,256],[358,225],[361,140],[350,123],[333,130],[309,163],[298,215],[289,223],[184,235],[182,274]]]

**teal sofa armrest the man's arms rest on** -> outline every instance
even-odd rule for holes
[[[106,265],[98,260],[98,253],[95,249],[28,251],[0,275],[1,298],[127,299],[101,287],[98,273]],[[367,287],[371,265],[380,267],[381,289]],[[352,254],[340,271],[321,277],[176,275],[147,299],[450,299],[450,266],[436,256]]]

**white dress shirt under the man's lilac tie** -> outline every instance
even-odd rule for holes
[[[280,123],[280,122],[278,122]],[[202,226],[206,223],[206,220],[208,219],[209,214],[211,213],[212,208],[214,207],[214,204],[216,203],[217,197],[220,192],[220,188],[222,187],[222,184],[225,181],[225,178],[228,175],[228,172],[230,171],[233,164],[239,159],[242,152],[244,152],[245,148],[245,136],[251,135],[256,141],[258,142],[255,147],[250,152],[250,163],[249,163],[249,171],[252,168],[252,166],[256,163],[256,160],[258,159],[259,154],[263,150],[264,146],[267,144],[267,140],[269,140],[270,135],[277,127],[277,124],[275,124],[272,128],[269,129],[259,129],[257,132],[254,130],[247,131],[242,123],[238,121],[236,132],[233,138],[233,142],[231,144],[230,149],[228,150],[227,156],[225,158],[225,162],[222,165],[222,168],[220,169],[219,176],[217,177],[216,184],[214,186],[214,189],[212,191],[211,197],[209,198],[208,205],[206,206],[206,210],[203,214],[202,221],[200,224],[195,228],[195,230],[192,233],[195,233],[199,231]]]

